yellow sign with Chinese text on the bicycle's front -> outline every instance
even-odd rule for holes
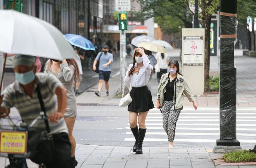
[[[0,153],[26,153],[28,139],[27,135],[27,132],[0,132]]]

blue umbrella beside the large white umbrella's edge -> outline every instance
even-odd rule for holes
[[[95,47],[92,42],[83,36],[74,35],[74,34],[66,34],[64,37],[68,40],[68,42],[72,45],[80,47],[84,50],[93,50],[95,51]]]

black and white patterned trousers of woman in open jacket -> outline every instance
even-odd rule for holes
[[[173,110],[173,101],[164,101],[163,104],[163,128],[168,135],[168,142],[173,142],[175,136],[176,123],[180,116],[181,108]]]

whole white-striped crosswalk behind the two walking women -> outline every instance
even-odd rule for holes
[[[218,107],[184,107],[176,125],[174,142],[216,142],[220,139],[220,114]],[[236,110],[236,135],[241,143],[256,143],[256,108],[238,107]],[[162,124],[162,114],[157,108],[146,118],[147,132],[144,141],[167,141]],[[134,141],[129,121],[125,127],[124,141]]]

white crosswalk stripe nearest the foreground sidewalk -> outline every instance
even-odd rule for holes
[[[124,141],[134,141],[134,138],[125,138]],[[144,141],[168,142],[167,139],[160,139],[160,138],[144,138]],[[216,139],[174,139],[174,142],[216,142]],[[239,142],[241,142],[241,143],[256,143],[256,140],[239,140]]]

